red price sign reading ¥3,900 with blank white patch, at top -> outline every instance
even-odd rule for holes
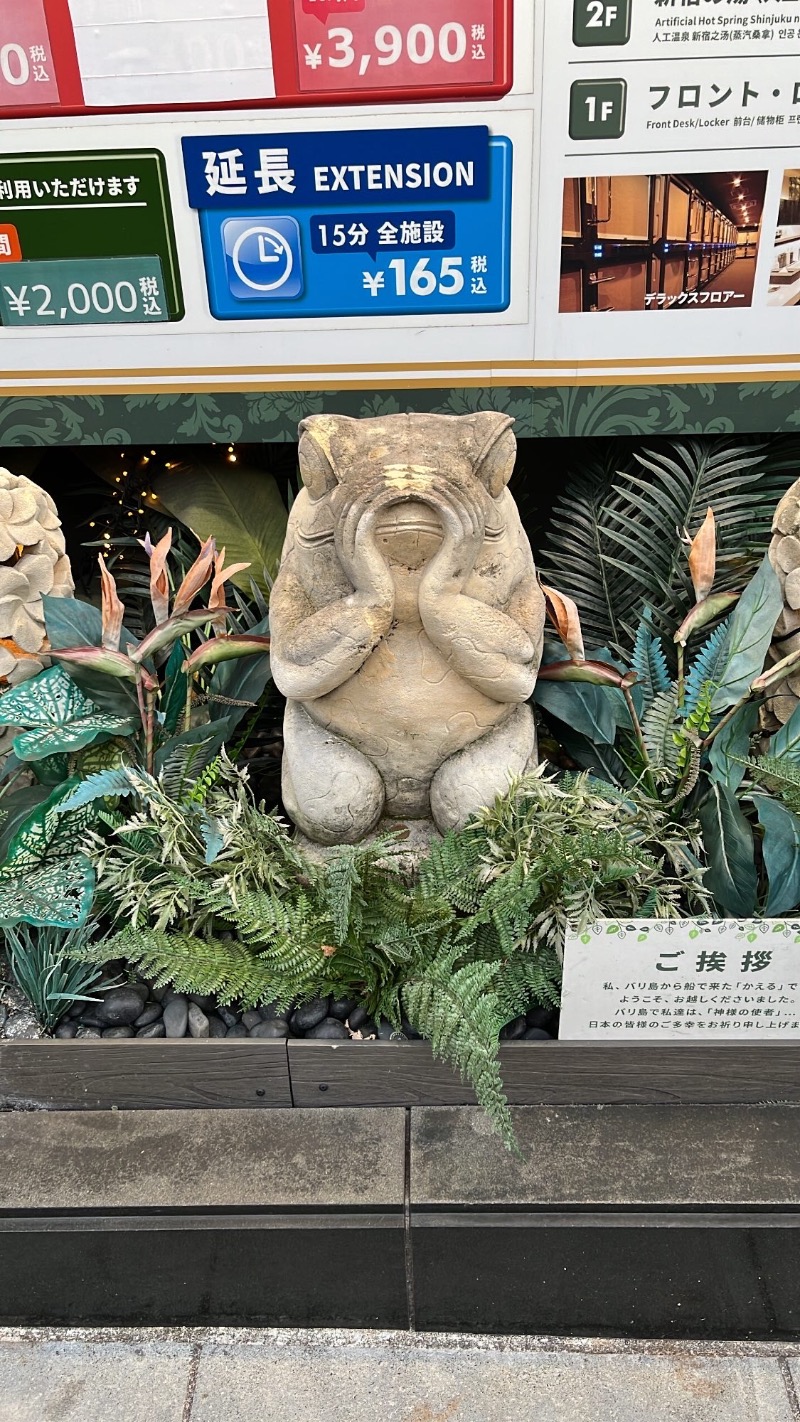
[[[512,87],[513,0],[402,0],[402,4],[263,0],[263,21],[252,16],[246,36],[225,30],[230,21],[222,0],[219,20],[205,21],[203,37],[198,36],[205,55],[200,70],[207,75],[207,97],[203,97],[198,73],[192,73],[198,61],[192,60],[193,51],[186,51],[186,26],[169,6],[161,18],[138,26],[138,48],[145,53],[145,47],[149,60],[141,73],[132,74],[125,28],[136,20],[135,7],[122,6],[131,14],[115,10],[112,21],[90,24],[87,16],[97,11],[87,10],[85,0],[0,0],[0,112],[36,117],[43,109],[134,114],[472,100],[499,98]],[[210,40],[217,30],[220,43],[215,46]],[[178,51],[189,53],[188,68],[168,85],[171,64],[165,60],[161,65],[165,74],[156,73],[158,55],[169,58]],[[232,53],[240,61],[236,73]],[[260,71],[260,61],[253,58],[259,54],[264,55]],[[91,63],[84,74],[81,55]],[[259,74],[256,82],[253,73]],[[179,80],[186,81],[185,101]]]

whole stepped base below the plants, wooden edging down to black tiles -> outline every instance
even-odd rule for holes
[[[800,1337],[800,1047],[502,1065],[521,1160],[422,1042],[0,1042],[0,1325]]]

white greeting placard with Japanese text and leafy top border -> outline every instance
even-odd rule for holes
[[[800,1037],[800,921],[602,919],[568,933],[561,1041]]]

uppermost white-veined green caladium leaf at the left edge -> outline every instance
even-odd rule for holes
[[[129,735],[136,722],[132,717],[98,711],[63,667],[55,665],[0,697],[0,725],[24,727],[14,739],[14,754],[20,761],[38,761],[80,751],[101,735]]]

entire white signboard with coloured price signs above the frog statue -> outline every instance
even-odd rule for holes
[[[1,7],[0,266],[158,259],[171,320],[6,306],[4,388],[797,378],[797,0],[162,11]],[[146,208],[17,191],[148,152]]]

